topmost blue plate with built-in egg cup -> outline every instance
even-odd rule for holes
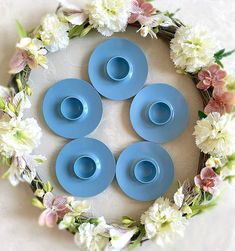
[[[148,63],[144,52],[127,39],[109,39],[91,55],[88,73],[96,90],[106,98],[125,100],[144,85]]]

